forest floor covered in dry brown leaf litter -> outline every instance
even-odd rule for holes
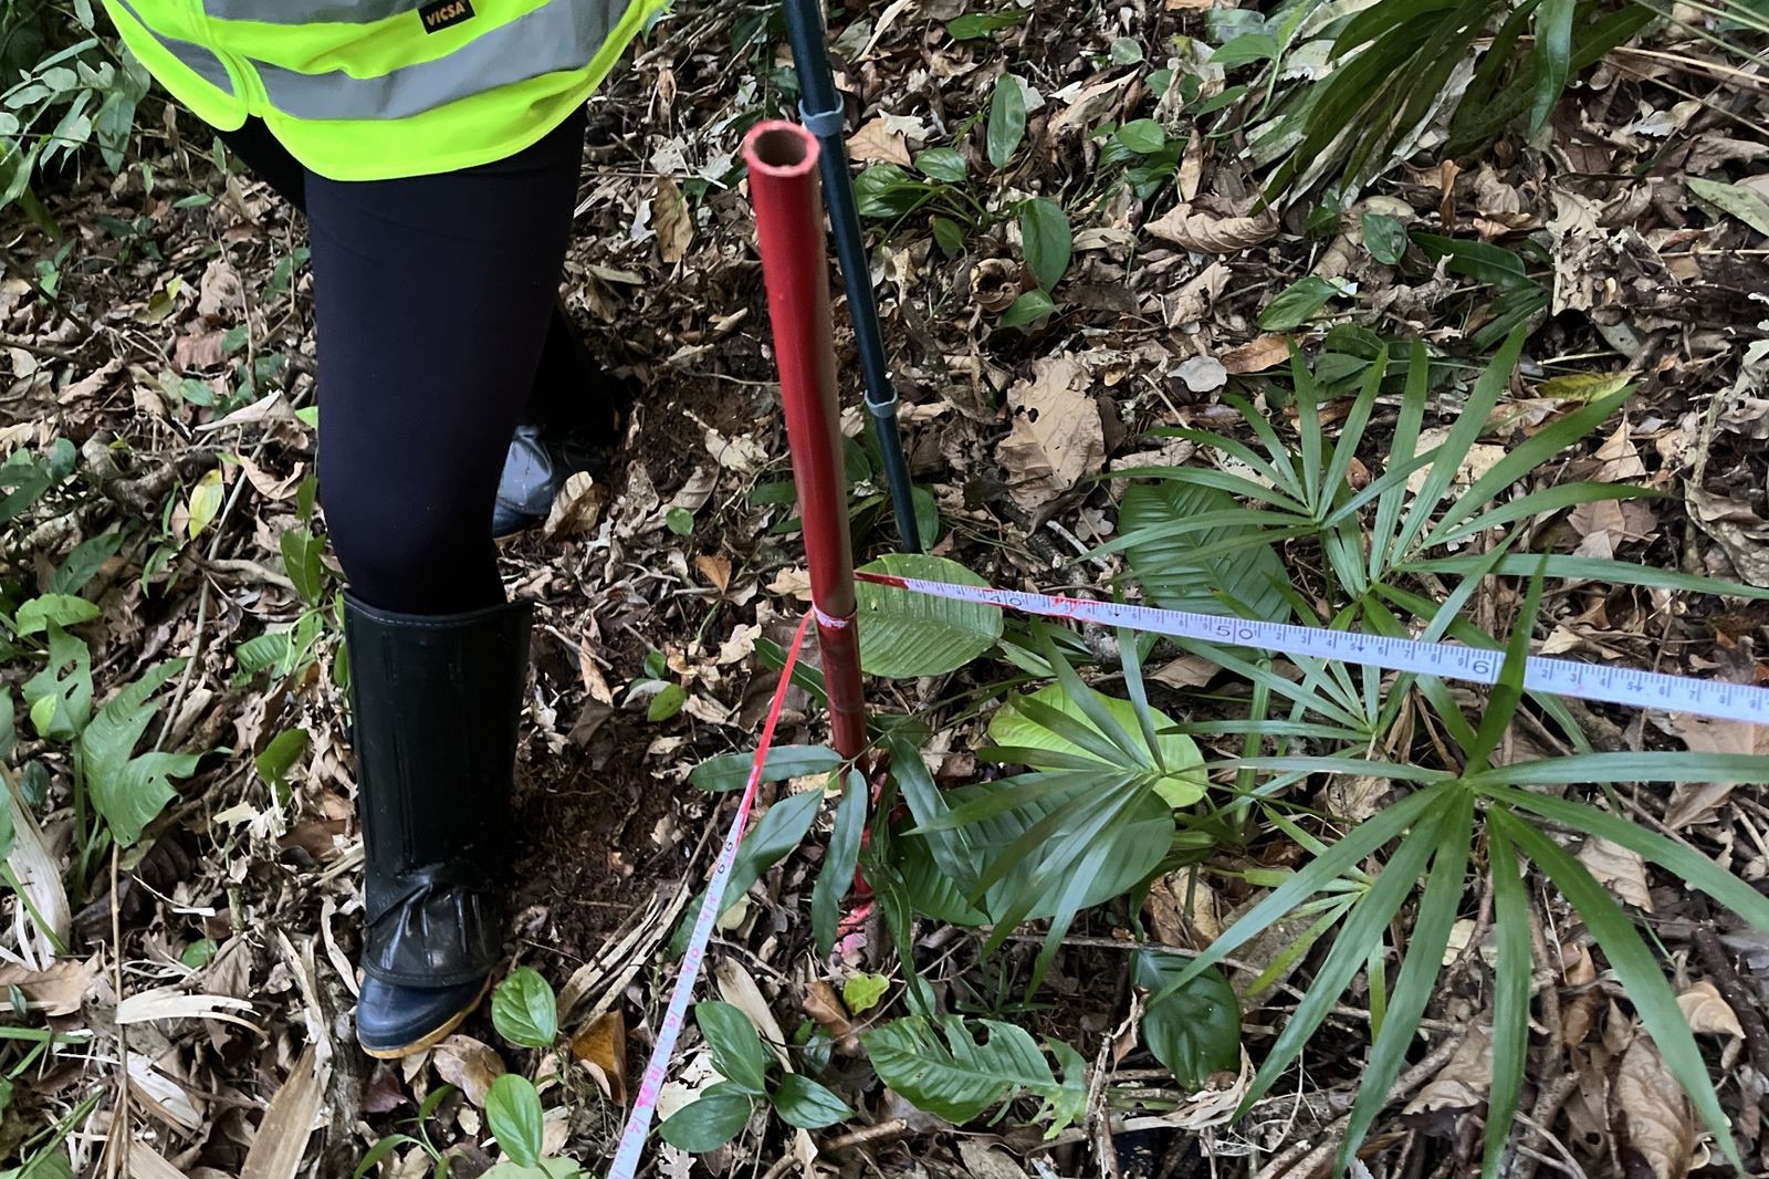
[[[911,466],[941,517],[936,551],[998,586],[1109,590],[1122,558],[1090,551],[1114,535],[1122,482],[1095,476],[1210,462],[1191,441],[1150,437],[1157,427],[1252,439],[1224,389],[1265,398],[1283,420],[1268,377],[1283,379],[1291,340],[1316,356],[1353,356],[1376,336],[1428,342],[1449,379],[1426,425],[1451,425],[1463,374],[1497,343],[1482,329],[1514,287],[1419,250],[1378,260],[1362,241],[1371,223],[1360,220],[1376,212],[1482,243],[1489,266],[1504,253],[1518,285],[1539,296],[1505,395],[1509,425],[1488,439],[1497,453],[1589,400],[1580,379],[1635,382],[1624,414],[1558,455],[1553,471],[1640,482],[1670,497],[1627,501],[1626,512],[1585,505],[1544,526],[1535,547],[1769,586],[1769,225],[1696,202],[1686,184],[1730,170],[1769,196],[1760,74],[1728,76],[1675,37],[1642,42],[1576,85],[1543,135],[1505,138],[1467,166],[1438,163],[1426,142],[1343,221],[1321,225],[1311,202],[1252,214],[1258,177],[1237,140],[1187,135],[1205,124],[1150,89],[1152,71],[1183,73],[1201,60],[1173,37],[1203,35],[1208,7],[1033,9],[985,37],[953,41],[945,28],[964,14],[962,0],[927,0],[872,5],[839,30],[862,166],[907,168],[922,150],[955,142],[968,179],[941,202],[999,211],[1042,195],[1074,227],[1056,313],[1008,328],[1003,312],[1033,285],[1012,216],[985,218],[953,253],[936,241],[925,207],[870,221]],[[474,1175],[497,1156],[476,1101],[504,1067],[564,1067],[548,1096],[547,1149],[593,1174],[607,1158],[624,1117],[624,1071],[637,1076],[674,979],[665,940],[729,821],[729,795],[695,790],[686,775],[709,756],[754,747],[775,683],[757,644],[785,641],[807,597],[798,536],[778,528],[791,510],[754,494],[787,478],[752,218],[734,165],[747,126],[787,104],[784,42],[764,16],[681,5],[591,106],[564,292],[591,347],[644,393],[626,462],[607,485],[573,483],[545,528],[501,551],[509,591],[538,611],[509,951],[559,991],[568,1032],[617,1013],[626,1052],[580,1043],[568,1059],[586,1067],[511,1050],[488,1009],[444,1048],[405,1062],[370,1062],[354,1048],[361,852],[343,701],[329,674],[340,636],[322,609],[306,657],[271,671],[241,662],[242,644],[311,614],[281,540],[301,526],[313,467],[302,411],[315,397],[315,340],[299,218],[249,175],[219,170],[195,122],[170,112],[157,119],[150,103],[142,143],[150,172],[129,166],[50,186],[42,196],[60,239],[23,218],[5,228],[0,450],[69,439],[81,455],[78,490],[46,501],[23,531],[14,524],[9,549],[28,543],[23,556],[48,579],[76,542],[120,529],[127,543],[83,591],[101,609],[80,627],[99,701],[165,659],[189,657],[149,736],[202,761],[136,846],[94,855],[71,800],[69,756],[32,738],[21,715],[14,765],[41,767],[25,774],[21,797],[35,791],[41,850],[65,882],[71,954],[53,954],[18,912],[0,981],[14,988],[21,1027],[71,1039],[14,1078],[0,1158],[78,1112],[64,1126],[74,1174],[106,1174],[127,1140],[136,1175],[348,1175],[386,1135],[405,1133],[414,1140],[396,1144],[380,1174],[419,1175],[433,1168],[416,1140],[423,1108],[425,1142],[453,1149],[451,1174]],[[1017,163],[991,170],[980,163],[985,122],[1007,69],[1035,101]],[[1221,89],[1221,67],[1210,85]],[[1093,133],[1152,115],[1176,150],[1171,181],[1145,202]],[[1309,276],[1332,280],[1330,292],[1297,322],[1270,328],[1274,299]],[[854,402],[840,308],[837,342]],[[858,414],[849,425],[858,432]],[[1383,455],[1359,462],[1369,478]],[[211,471],[219,471],[219,499],[212,485],[202,490]],[[858,496],[877,490],[867,483]],[[856,515],[865,556],[888,551],[890,538],[876,503]],[[324,577],[340,584],[329,565]],[[1762,602],[1585,582],[1553,595],[1539,637],[1576,659],[1762,683],[1769,674],[1755,648],[1765,623]],[[1208,667],[1173,653],[1157,662],[1152,692],[1169,715],[1215,706]],[[30,671],[9,664],[0,680],[16,687]],[[679,708],[647,719],[660,692]],[[879,685],[876,696],[883,710],[904,713],[939,697],[939,685],[915,680]],[[1760,731],[1744,724],[1597,706],[1580,717],[1599,749],[1764,751]],[[930,747],[936,777],[975,779],[980,720],[952,710],[941,724]],[[301,742],[278,747],[294,751],[287,759],[262,758],[297,729]],[[821,733],[821,713],[794,692],[782,740],[814,744]],[[1224,756],[1238,751],[1237,738],[1217,744]],[[764,805],[775,786],[766,791]],[[1760,786],[1640,791],[1629,804],[1758,889],[1769,882]],[[816,1014],[826,988],[814,984],[892,972],[890,940],[876,926],[835,963],[814,954],[807,912],[821,843],[814,836],[752,889],[722,926],[709,967],[722,993],[759,993],[787,1032],[807,1009],[828,1027],[828,1011]],[[1237,864],[1279,867],[1298,855],[1274,837]],[[1769,1174],[1769,938],[1712,922],[1677,880],[1643,864],[1613,869],[1606,883],[1650,922],[1681,993],[1727,979],[1714,995],[1732,1016],[1719,1023],[1737,1036],[1696,1030],[1709,1062],[1725,1066],[1721,1099],[1750,1174]],[[1219,878],[1203,901],[1182,905],[1168,940],[1205,938],[1254,892],[1245,876]],[[1472,896],[1465,912],[1479,906]],[[922,933],[923,974],[953,1002],[998,1013],[1010,1004],[987,988],[1012,991],[1038,944],[1010,940],[985,963],[971,931],[930,922]],[[1014,1018],[1076,1044],[1118,1082],[1160,1090],[1166,1073],[1123,1034],[1134,993],[1127,936],[1122,903],[1086,915],[1040,1002]],[[1698,1145],[1698,1122],[1663,1069],[1652,1083],[1619,1073],[1635,1032],[1613,977],[1592,965],[1571,926],[1546,938],[1551,961],[1537,963],[1537,984],[1558,997],[1558,1050],[1532,1067],[1523,1108],[1539,1137],[1514,1174],[1732,1174],[1712,1144]],[[1288,984],[1244,1013],[1252,1062],[1314,963],[1293,963]],[[1435,998],[1359,1163],[1364,1174],[1477,1168],[1484,1082],[1479,1044],[1465,1041],[1489,1002],[1470,981],[1477,974],[1459,968]],[[1357,1090],[1367,1023],[1367,995],[1348,995],[1306,1067],[1233,1126],[1210,1110],[1221,1112],[1224,1094],[1233,1106],[1245,1076],[1203,1096],[1168,1089],[1169,1121],[1141,1138],[1123,1135],[1111,1161],[1093,1133],[1042,1140],[1030,1105],[957,1131],[907,1110],[844,1060],[835,1073],[846,1083],[831,1083],[860,1114],[816,1135],[819,1161],[782,1163],[803,1142],[775,1122],[697,1160],[660,1145],[651,1174],[1316,1174],[1323,1161],[1311,1149]],[[702,1071],[683,1083],[704,1080]],[[444,1082],[465,1096],[426,1105]],[[97,1103],[81,1106],[88,1096]],[[1668,1126],[1670,1145],[1643,1137],[1642,1119]],[[294,1144],[274,1158],[264,1145],[272,1126]],[[142,1161],[149,1154],[157,1160]]]

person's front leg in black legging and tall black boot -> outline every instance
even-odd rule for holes
[[[357,1039],[439,1041],[502,949],[529,614],[490,535],[577,193],[582,119],[435,177],[306,177],[320,499],[348,581],[364,852]]]

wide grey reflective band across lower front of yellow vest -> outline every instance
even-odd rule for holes
[[[432,62],[379,78],[302,74],[253,62],[271,106],[295,119],[409,119],[541,74],[582,69],[628,0],[552,0]],[[417,18],[412,18],[417,19]]]

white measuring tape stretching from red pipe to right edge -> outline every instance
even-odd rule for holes
[[[1389,639],[1353,630],[1291,627],[1288,623],[1162,611],[1153,605],[1120,605],[1116,602],[1093,602],[1090,598],[1065,598],[1017,590],[955,586],[920,577],[854,575],[862,581],[897,586],[913,593],[927,593],[936,598],[999,605],[1047,618],[1076,618],[1106,627],[1169,634],[1180,639],[1252,646],[1277,655],[1313,655],[1314,659],[1330,659],[1343,664],[1415,671],[1445,680],[1498,683],[1498,669],[1505,662],[1504,651],[1488,651],[1456,643]],[[1633,708],[1689,712],[1700,717],[1769,724],[1769,689],[1727,683],[1723,680],[1695,680],[1691,676],[1670,676],[1658,671],[1633,671],[1629,667],[1606,667],[1603,664],[1580,664],[1571,659],[1530,655],[1525,660],[1523,687],[1555,696],[1629,705]]]

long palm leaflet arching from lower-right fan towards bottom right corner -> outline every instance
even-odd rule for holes
[[[1714,1092],[1714,1082],[1707,1076],[1707,1064],[1702,1060],[1702,1050],[1695,1043],[1689,1021],[1677,1007],[1677,997],[1665,981],[1659,961],[1647,949],[1622,906],[1583,864],[1528,823],[1520,823],[1500,809],[1489,811],[1488,821],[1504,825],[1512,843],[1535,860],[1535,866],[1585,921],[1585,928],[1603,947],[1604,958],[1610,959],[1610,970],[1627,991],[1635,1013],[1652,1036],[1652,1043],[1658,1044],[1665,1067],[1689,1094],[1689,1101],[1707,1122],[1707,1129],[1714,1135],[1727,1161],[1742,1170],[1744,1165],[1732,1144],[1732,1128],[1719,1108],[1719,1094]]]

